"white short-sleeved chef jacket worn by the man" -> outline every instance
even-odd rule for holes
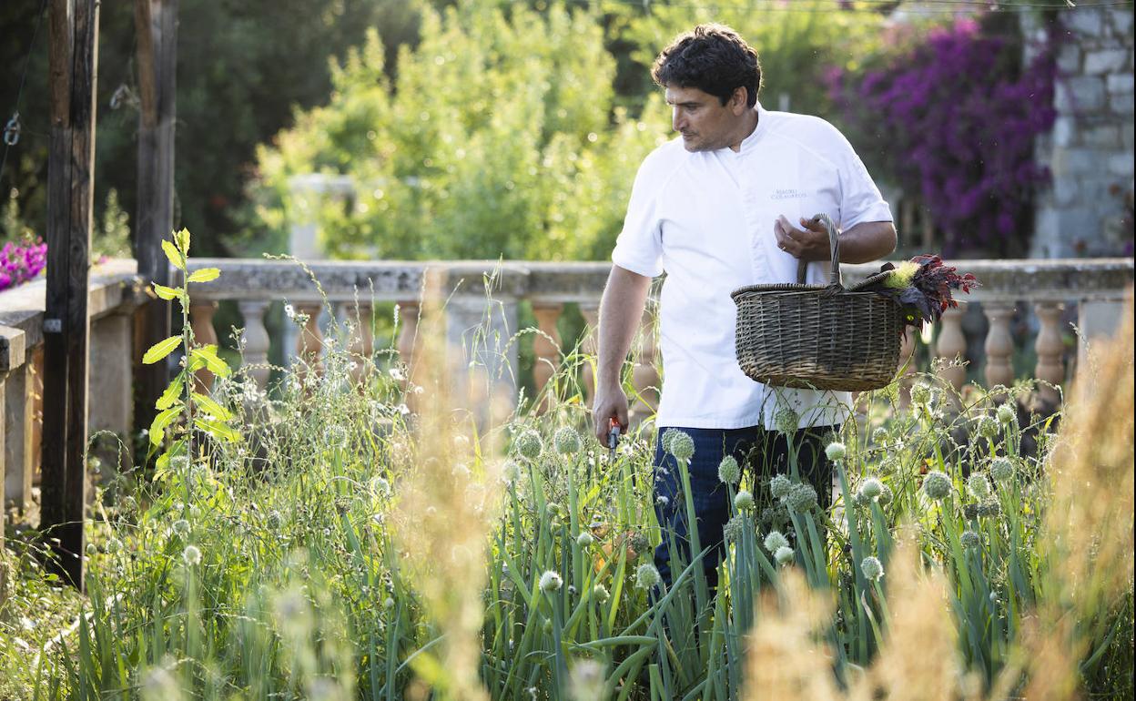
[[[734,349],[736,306],[729,293],[752,284],[796,282],[797,260],[777,247],[784,215],[825,212],[842,228],[891,222],[887,202],[852,145],[818,117],[758,108],[758,126],[737,152],[688,152],[682,139],[640,166],[615,265],[655,277],[662,397],[657,426],[774,427],[783,408],[800,427],[844,422],[847,392],[767,387],[746,377]],[[807,282],[828,281],[829,262],[809,265]]]

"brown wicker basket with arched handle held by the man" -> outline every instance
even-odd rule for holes
[[[879,389],[895,377],[903,331],[900,308],[875,292],[841,284],[836,226],[827,215],[815,222],[828,231],[832,274],[827,285],[750,285],[730,297],[737,304],[737,364],[768,385],[817,390]]]

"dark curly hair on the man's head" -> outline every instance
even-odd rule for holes
[[[663,87],[698,87],[716,95],[722,105],[735,90],[745,87],[746,103],[753,107],[761,90],[761,62],[757,50],[734,30],[700,24],[662,50],[654,59],[651,77]]]

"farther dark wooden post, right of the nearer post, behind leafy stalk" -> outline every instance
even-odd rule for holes
[[[143,279],[169,285],[161,240],[174,228],[174,116],[177,64],[177,0],[135,0],[137,33],[139,124],[137,210],[134,258]],[[169,384],[165,362],[142,365],[142,353],[170,334],[169,303],[151,300],[139,307],[135,325],[135,428],[149,428],[153,402]]]

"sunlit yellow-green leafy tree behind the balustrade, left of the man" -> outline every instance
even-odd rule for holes
[[[278,236],[315,217],[340,257],[605,257],[640,161],[666,137],[616,107],[599,15],[460,2],[423,14],[385,78],[371,33],[333,73],[327,106],[260,150],[258,211]],[[350,175],[349,207],[304,211],[289,181]]]

